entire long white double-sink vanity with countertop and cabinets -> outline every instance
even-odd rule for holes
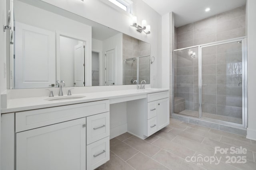
[[[73,96],[81,98],[7,100],[1,109],[2,170],[93,170],[104,164],[110,159],[111,104],[126,102],[127,132],[141,139],[169,124],[168,89]]]

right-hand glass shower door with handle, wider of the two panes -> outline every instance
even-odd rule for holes
[[[244,125],[244,39],[200,50],[200,117]]]

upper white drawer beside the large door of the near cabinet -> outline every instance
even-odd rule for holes
[[[109,112],[86,117],[87,145],[109,136]]]

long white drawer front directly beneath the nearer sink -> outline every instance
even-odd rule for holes
[[[109,111],[109,100],[16,112],[16,132]]]

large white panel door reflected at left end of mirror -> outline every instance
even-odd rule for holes
[[[15,88],[55,84],[55,33],[15,22]]]

